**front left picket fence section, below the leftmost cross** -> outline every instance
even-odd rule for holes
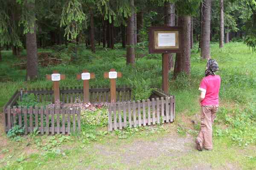
[[[25,135],[34,129],[49,134],[71,134],[81,131],[81,108],[37,108],[7,106],[4,111],[5,131],[18,125]]]

